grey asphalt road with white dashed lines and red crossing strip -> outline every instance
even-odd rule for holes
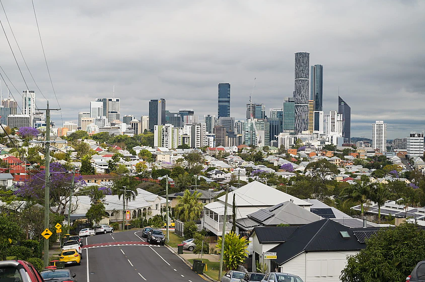
[[[84,238],[81,265],[68,267],[78,282],[204,282],[166,246],[143,239],[134,230]]]

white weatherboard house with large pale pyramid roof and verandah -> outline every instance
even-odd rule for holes
[[[262,208],[274,206],[285,201],[293,203],[310,210],[312,203],[294,197],[278,189],[265,185],[258,181],[252,181],[232,192],[229,192],[227,201],[227,218],[224,218],[226,195],[223,195],[215,202],[204,205],[204,227],[221,236],[223,224],[226,222],[226,233],[232,229],[232,203],[235,194],[236,219],[248,217],[255,211]],[[238,231],[238,230],[237,230]]]

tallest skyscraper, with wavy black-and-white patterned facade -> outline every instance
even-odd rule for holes
[[[308,130],[308,84],[310,54],[295,53],[295,133]]]

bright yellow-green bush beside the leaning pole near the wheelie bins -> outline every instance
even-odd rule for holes
[[[222,239],[217,240],[217,247],[222,248]],[[235,270],[239,264],[244,263],[248,257],[249,240],[243,236],[239,237],[235,232],[230,232],[225,235],[225,251],[223,253],[223,263],[226,270]],[[221,277],[219,277],[221,278]]]

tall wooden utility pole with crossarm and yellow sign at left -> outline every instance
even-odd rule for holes
[[[39,108],[38,110],[46,110],[46,155],[45,155],[45,188],[44,188],[44,228],[49,229],[49,212],[50,212],[50,111],[60,110],[60,108]],[[32,122],[32,120],[31,120]],[[44,241],[44,266],[49,265],[49,239]]]

